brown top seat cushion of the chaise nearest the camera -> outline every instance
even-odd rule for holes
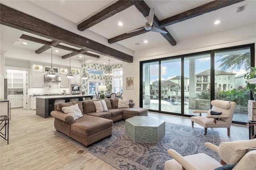
[[[71,130],[85,136],[90,136],[113,126],[113,121],[90,115],[84,115],[83,119],[71,125]]]

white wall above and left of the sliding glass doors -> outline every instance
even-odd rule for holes
[[[238,29],[188,39],[187,41],[183,40],[182,42],[177,42],[176,46],[168,45],[136,51],[133,63],[123,62],[123,98],[132,99],[135,103],[135,107],[139,107],[140,61],[256,43],[255,30],[256,25],[249,25]],[[126,77],[134,78],[134,90],[126,90]]]

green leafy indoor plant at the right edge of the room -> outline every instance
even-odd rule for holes
[[[246,88],[251,90],[252,92],[252,97],[256,101],[256,81],[250,81],[253,78],[256,78],[256,68],[251,67],[251,72],[248,72],[244,75],[244,78],[247,80],[246,81]]]

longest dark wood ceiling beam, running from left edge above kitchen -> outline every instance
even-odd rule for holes
[[[127,63],[133,62],[133,56],[131,55],[92,41],[91,39],[82,37],[81,35],[77,35],[46,21],[39,20],[38,18],[24,14],[3,4],[0,4],[0,11],[0,24],[2,25],[20,29],[28,33],[46,37],[54,41],[92,51]]]

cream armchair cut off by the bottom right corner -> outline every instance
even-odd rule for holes
[[[204,153],[182,156],[173,149],[167,150],[172,160],[164,163],[165,170],[224,170],[230,167],[233,170],[256,170],[256,139],[223,142],[220,146],[205,143],[206,147],[217,152],[222,159],[220,162]],[[225,169],[226,170],[226,169]]]

